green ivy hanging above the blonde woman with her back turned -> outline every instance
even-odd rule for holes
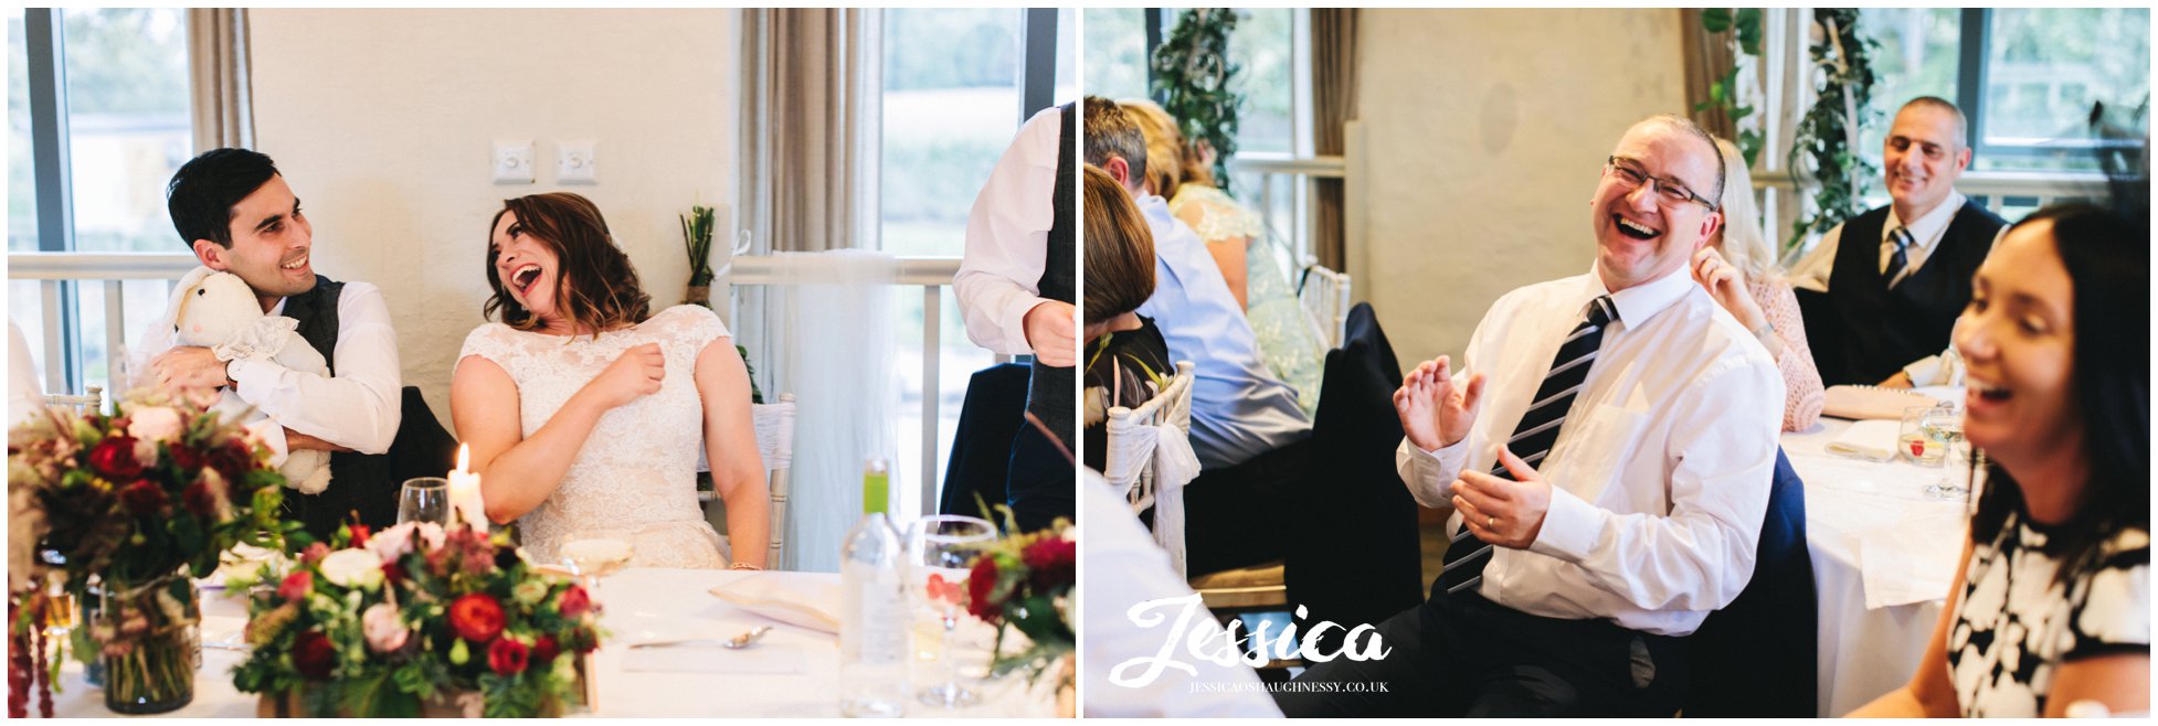
[[[1237,153],[1237,108],[1243,106],[1243,97],[1230,88],[1241,71],[1228,58],[1232,32],[1237,32],[1237,11],[1183,11],[1170,37],[1155,47],[1148,88],[1161,110],[1178,121],[1185,140],[1213,146],[1213,174],[1221,192],[1228,192],[1228,157]]]

